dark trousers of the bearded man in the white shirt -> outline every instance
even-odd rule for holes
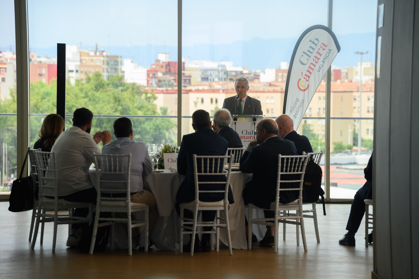
[[[81,191],[74,192],[67,196],[59,196],[59,199],[65,199],[69,202],[88,202],[96,205],[96,198],[98,193],[96,192],[95,187],[91,187],[89,189],[84,189]],[[74,209],[73,216],[75,217],[87,217],[89,214],[88,208],[76,208]],[[88,223],[82,223],[82,224],[72,224],[71,228],[78,230],[82,229],[84,232],[87,230],[89,224]]]

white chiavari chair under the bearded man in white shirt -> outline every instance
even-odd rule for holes
[[[54,222],[54,238],[52,242],[52,251],[55,251],[55,242],[57,240],[57,225],[63,224],[78,224],[78,223],[90,223],[93,217],[93,204],[82,203],[82,202],[69,202],[64,199],[58,198],[58,171],[57,171],[57,160],[55,158],[55,151],[42,152],[39,150],[33,150],[33,154],[36,162],[36,171],[39,179],[39,194],[38,194],[38,210],[36,213],[36,225],[34,230],[34,239],[32,240],[31,249],[35,248],[36,236],[38,234],[39,223],[42,223],[41,229],[41,241],[43,240],[44,224],[46,222]],[[47,183],[47,181],[51,181]],[[48,184],[48,185],[47,185]],[[89,215],[86,218],[83,217],[69,217],[58,215],[58,211],[69,208],[88,208]],[[47,213],[54,211],[54,214]],[[42,217],[42,219],[41,219]]]

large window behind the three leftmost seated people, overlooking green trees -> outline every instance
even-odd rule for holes
[[[66,44],[66,129],[73,111],[86,107],[97,116],[92,134],[112,133],[126,115],[134,140],[175,144],[176,10],[169,0],[28,0],[31,146],[45,115],[56,113],[57,43]]]

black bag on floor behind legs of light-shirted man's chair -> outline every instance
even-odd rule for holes
[[[106,221],[99,221],[106,222]],[[93,225],[94,221],[89,225],[87,231],[80,238],[79,243],[77,244],[77,250],[81,253],[90,252],[90,244],[92,243],[93,235]],[[96,233],[95,248],[93,252],[103,252],[105,251],[106,245],[108,245],[109,234],[111,233],[111,225],[98,227],[98,232]]]

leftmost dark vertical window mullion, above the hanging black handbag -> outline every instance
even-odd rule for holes
[[[15,31],[17,173],[20,173],[29,145],[29,36],[26,0],[15,0]],[[24,173],[27,173],[26,166],[24,168]]]

